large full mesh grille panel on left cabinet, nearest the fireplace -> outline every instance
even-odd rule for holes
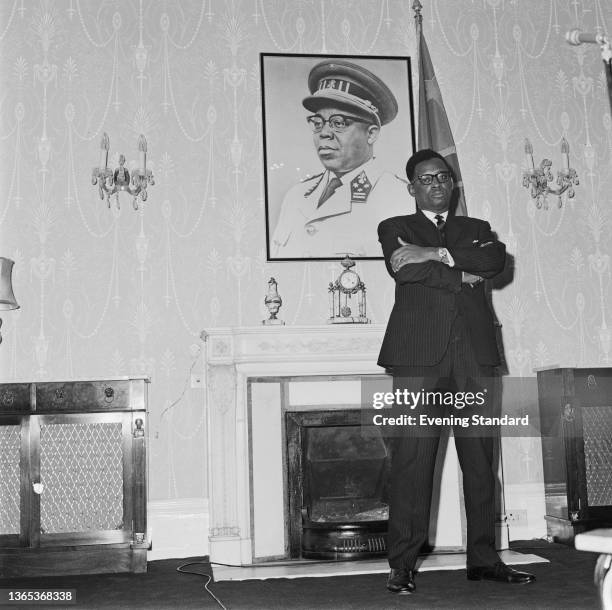
[[[41,533],[123,527],[121,424],[40,428]]]

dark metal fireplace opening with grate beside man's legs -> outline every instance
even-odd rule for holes
[[[390,458],[359,410],[286,414],[292,558],[386,554]]]

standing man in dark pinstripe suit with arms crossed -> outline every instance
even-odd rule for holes
[[[486,392],[487,380],[494,378],[500,360],[483,280],[503,269],[505,246],[487,222],[449,214],[453,174],[440,154],[428,149],[417,152],[408,160],[406,173],[417,212],[388,218],[378,226],[387,270],[396,282],[378,364],[392,372],[394,391],[452,393],[485,388]],[[487,404],[471,411],[447,403],[419,409],[433,416],[490,413]],[[418,421],[419,410],[410,412]],[[463,472],[468,579],[533,581],[533,575],[502,563],[495,550],[493,436],[454,425],[452,417],[448,421]],[[441,428],[437,423],[401,426],[399,436],[389,439],[387,588],[394,593],[415,590],[414,569],[427,542]]]

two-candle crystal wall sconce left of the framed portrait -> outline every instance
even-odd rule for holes
[[[138,169],[130,172],[125,167],[125,155],[119,155],[119,167],[113,171],[108,167],[108,151],[110,149],[110,140],[105,132],[100,141],[100,164],[94,167],[91,174],[91,183],[98,185],[100,199],[106,198],[108,207],[110,208],[110,198],[114,195],[119,209],[119,193],[125,191],[134,197],[132,206],[135,210],[138,209],[138,200],[145,202],[147,200],[147,185],[155,185],[153,173],[147,169],[147,141],[140,134],[138,138]],[[131,183],[131,186],[130,186]]]

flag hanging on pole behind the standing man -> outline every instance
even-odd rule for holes
[[[429,56],[429,49],[423,35],[423,17],[421,16],[421,3],[416,0],[413,4],[417,29],[417,44],[419,49],[419,136],[418,148],[431,148],[440,153],[446,162],[453,168],[455,178],[455,193],[453,203],[456,216],[467,216],[465,193],[459,169],[459,159],[455,149],[455,140],[446,116],[442,94],[436,74]]]

